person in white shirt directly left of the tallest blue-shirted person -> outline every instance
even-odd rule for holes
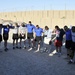
[[[22,23],[21,26],[19,27],[19,38],[20,38],[20,49],[21,49],[21,43],[22,43],[22,39],[24,40],[24,49],[26,49],[26,43],[25,43],[25,38],[26,38],[26,27],[25,25]]]

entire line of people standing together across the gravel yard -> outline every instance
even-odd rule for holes
[[[3,35],[2,35],[3,29]],[[13,39],[13,49],[22,48],[22,40],[24,41],[24,49],[26,46],[26,39],[28,40],[28,47],[32,49],[36,49],[40,51],[41,42],[43,42],[43,51],[50,52],[51,48],[48,48],[54,42],[56,47],[56,53],[61,56],[61,47],[63,38],[65,41],[65,48],[67,49],[67,59],[69,59],[68,63],[74,63],[74,51],[75,51],[75,26],[68,28],[68,26],[64,26],[64,28],[59,28],[58,25],[55,26],[54,30],[50,29],[48,26],[45,28],[39,27],[39,25],[33,25],[31,21],[28,24],[14,23],[11,25],[3,25],[0,24],[0,43],[2,41],[2,37],[4,39],[4,50],[8,51],[7,41],[9,38],[9,31],[12,29],[12,39]],[[20,39],[20,42],[18,42]],[[36,44],[37,43],[37,44]],[[18,46],[18,44],[20,46]]]

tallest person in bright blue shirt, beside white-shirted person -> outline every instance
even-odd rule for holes
[[[27,39],[30,47],[30,41],[32,42],[32,47],[33,47],[33,30],[35,29],[35,26],[29,21],[29,24],[26,24],[27,28]]]

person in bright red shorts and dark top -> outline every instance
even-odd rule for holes
[[[63,29],[60,29],[58,26],[55,26],[55,33],[56,33],[56,39],[55,39],[56,52],[60,56],[61,55],[63,35],[65,33],[64,33]]]

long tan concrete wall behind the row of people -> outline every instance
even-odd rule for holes
[[[0,19],[12,21],[32,21],[34,25],[45,25],[54,28],[55,25],[75,25],[75,10],[40,10],[40,11],[20,11],[20,12],[1,12]]]

